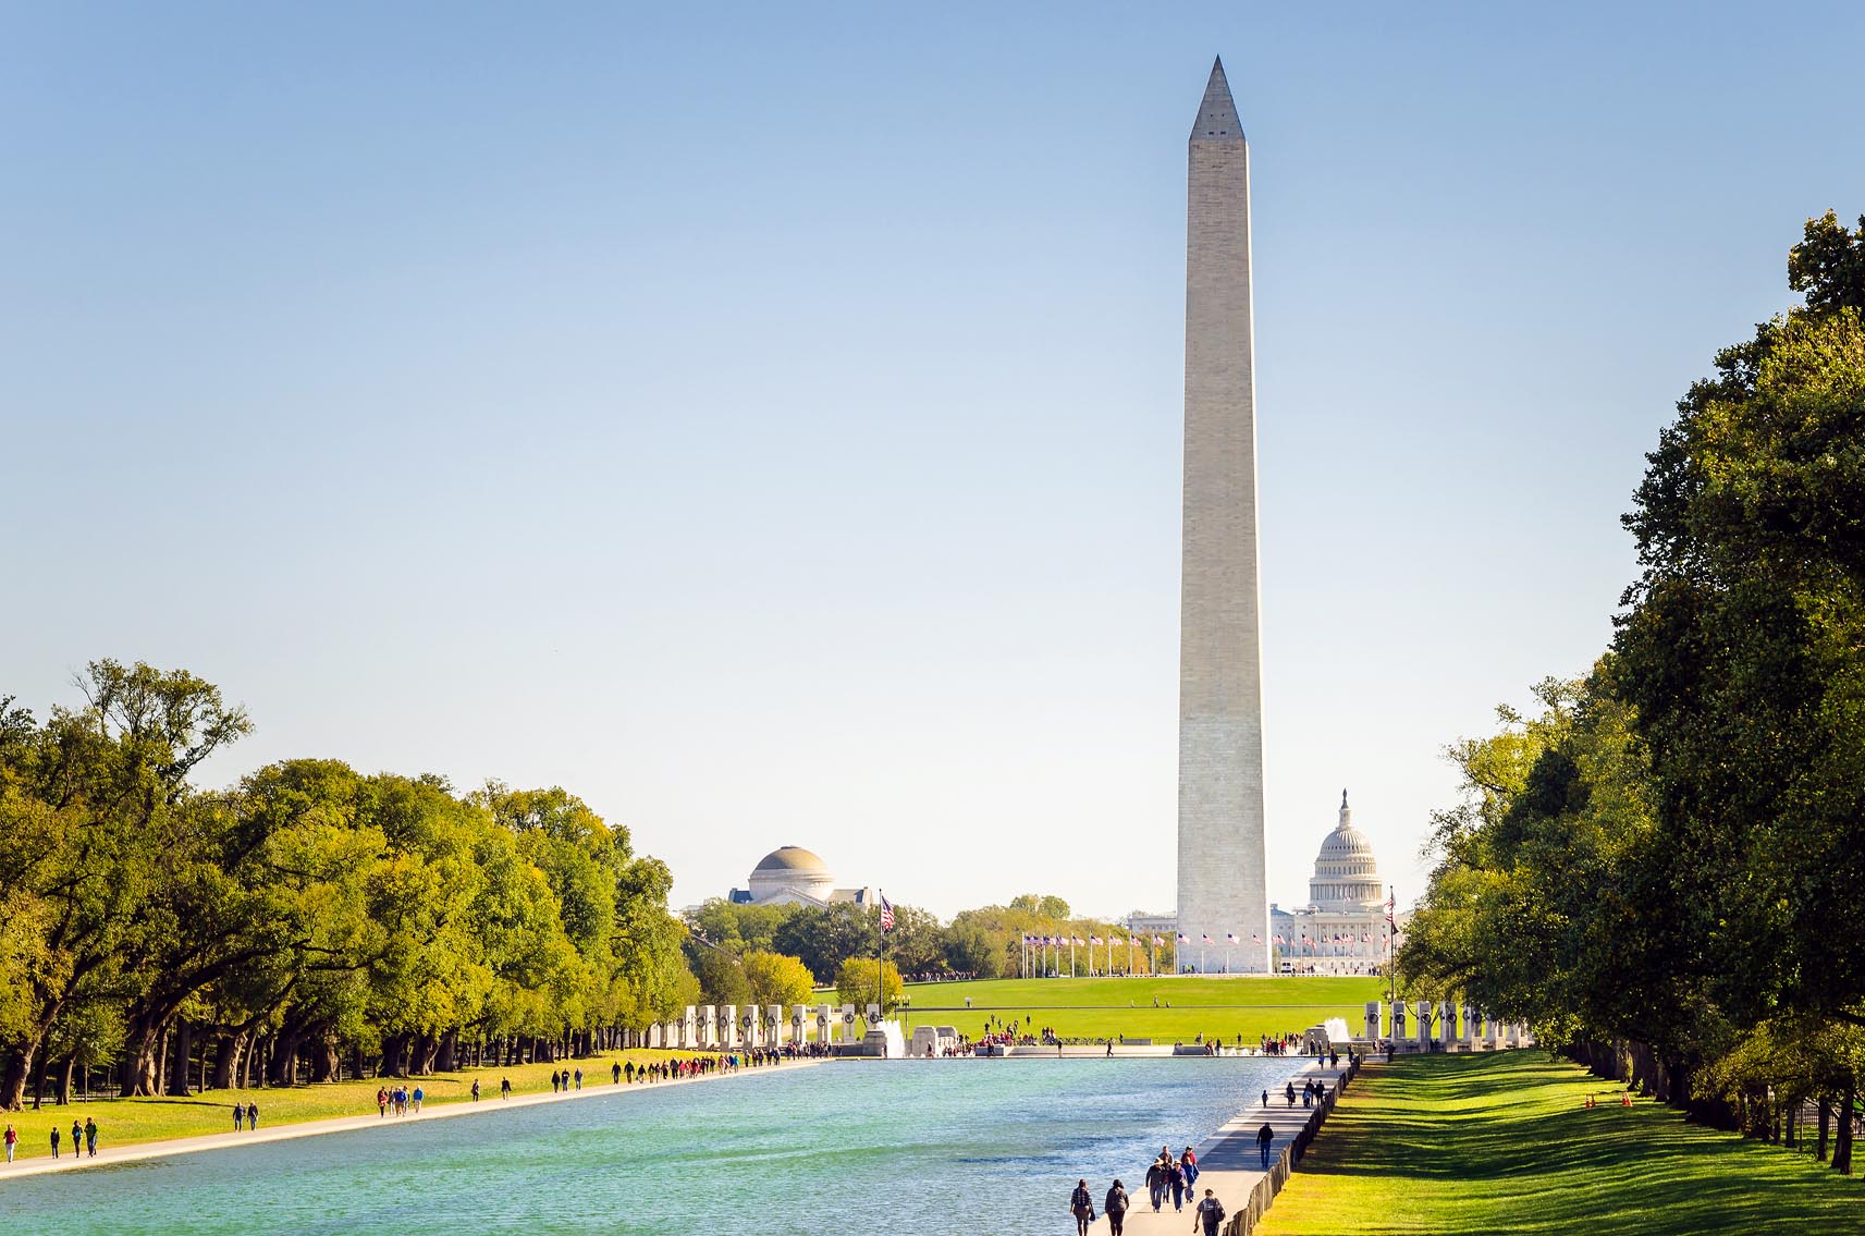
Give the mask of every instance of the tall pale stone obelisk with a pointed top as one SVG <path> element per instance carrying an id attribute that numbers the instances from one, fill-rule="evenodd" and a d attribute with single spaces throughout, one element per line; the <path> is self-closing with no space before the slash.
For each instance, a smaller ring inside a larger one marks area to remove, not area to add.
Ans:
<path id="1" fill-rule="evenodd" d="M 1268 969 L 1250 145 L 1223 62 L 1190 140 L 1184 574 L 1179 610 L 1179 968 Z"/>

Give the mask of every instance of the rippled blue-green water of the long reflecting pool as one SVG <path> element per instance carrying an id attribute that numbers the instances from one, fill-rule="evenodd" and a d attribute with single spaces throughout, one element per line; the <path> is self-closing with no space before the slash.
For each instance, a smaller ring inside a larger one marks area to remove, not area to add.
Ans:
<path id="1" fill-rule="evenodd" d="M 22 1236 L 1072 1232 L 1300 1061 L 845 1061 L 0 1182 Z"/>

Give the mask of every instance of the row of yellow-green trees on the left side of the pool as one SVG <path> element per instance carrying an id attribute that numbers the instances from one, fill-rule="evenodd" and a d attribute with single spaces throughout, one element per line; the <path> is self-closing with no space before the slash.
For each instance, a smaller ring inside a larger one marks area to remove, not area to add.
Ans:
<path id="1" fill-rule="evenodd" d="M 0 707 L 4 1107 L 48 1064 L 116 1064 L 123 1094 L 190 1092 L 196 1046 L 216 1085 L 425 1072 L 696 992 L 666 865 L 563 789 L 295 759 L 203 790 L 252 729 L 218 688 L 110 660 L 78 686 L 43 723 Z"/>

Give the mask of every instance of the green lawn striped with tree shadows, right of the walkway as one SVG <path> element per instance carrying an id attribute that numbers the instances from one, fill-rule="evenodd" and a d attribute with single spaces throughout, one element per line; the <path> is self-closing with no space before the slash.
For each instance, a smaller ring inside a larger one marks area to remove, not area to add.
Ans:
<path id="1" fill-rule="evenodd" d="M 1658 1104 L 1621 1107 L 1619 1089 L 1542 1051 L 1373 1064 L 1257 1232 L 1865 1230 L 1856 1178 Z"/>

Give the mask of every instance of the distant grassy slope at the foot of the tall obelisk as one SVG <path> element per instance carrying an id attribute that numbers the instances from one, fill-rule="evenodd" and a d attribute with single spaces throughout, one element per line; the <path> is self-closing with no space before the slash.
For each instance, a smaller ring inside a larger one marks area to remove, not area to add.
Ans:
<path id="1" fill-rule="evenodd" d="M 994 1012 L 1005 1022 L 1028 1016 L 1031 1027 L 1052 1025 L 1063 1038 L 1190 1042 L 1195 1035 L 1222 1035 L 1235 1042 L 1242 1035 L 1255 1044 L 1263 1035 L 1300 1033 L 1326 1018 L 1358 1027 L 1365 1001 L 1384 994 L 1384 979 L 987 979 L 910 984 L 906 1018 L 910 1025 L 957 1025 L 974 1037 Z"/>

